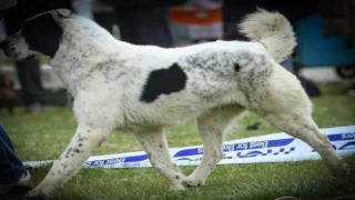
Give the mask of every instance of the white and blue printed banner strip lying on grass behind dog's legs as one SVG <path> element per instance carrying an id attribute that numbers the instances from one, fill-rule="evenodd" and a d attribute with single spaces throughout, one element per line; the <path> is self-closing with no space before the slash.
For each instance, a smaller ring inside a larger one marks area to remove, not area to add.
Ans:
<path id="1" fill-rule="evenodd" d="M 321 129 L 326 133 L 339 157 L 355 156 L 355 126 Z M 321 157 L 305 142 L 285 133 L 273 133 L 224 142 L 224 157 L 219 164 L 291 162 L 320 160 Z M 170 154 L 178 166 L 197 166 L 202 146 L 171 148 Z M 27 167 L 41 167 L 53 161 L 29 161 Z M 87 168 L 142 168 L 151 167 L 144 151 L 90 157 Z"/>

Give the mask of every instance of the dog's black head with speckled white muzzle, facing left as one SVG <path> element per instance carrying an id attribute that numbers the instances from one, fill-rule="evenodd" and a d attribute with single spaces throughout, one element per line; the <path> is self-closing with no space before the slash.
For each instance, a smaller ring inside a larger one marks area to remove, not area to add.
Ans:
<path id="1" fill-rule="evenodd" d="M 3 52 L 14 60 L 33 60 L 41 56 L 53 58 L 63 34 L 63 20 L 69 10 L 53 10 L 27 20 L 14 34 L 0 42 Z"/>

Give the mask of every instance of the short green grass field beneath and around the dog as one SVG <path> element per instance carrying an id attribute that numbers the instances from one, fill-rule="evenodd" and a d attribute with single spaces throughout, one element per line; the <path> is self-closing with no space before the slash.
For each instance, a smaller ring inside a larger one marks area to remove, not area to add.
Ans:
<path id="1" fill-rule="evenodd" d="M 320 128 L 355 124 L 355 97 L 346 96 L 348 84 L 322 86 L 324 93 L 313 98 L 314 120 Z M 18 156 L 23 161 L 55 159 L 64 150 L 75 130 L 70 107 L 47 107 L 41 116 L 28 116 L 18 108 L 10 116 L 0 111 L 0 121 L 7 128 Z M 246 127 L 260 122 L 260 129 Z M 260 117 L 247 113 L 226 139 L 240 139 L 280 132 Z M 193 122 L 168 130 L 170 147 L 202 144 Z M 113 132 L 94 154 L 139 151 L 141 147 L 131 134 Z M 352 170 L 355 158 L 346 159 Z M 190 174 L 195 167 L 183 167 Z M 49 167 L 31 170 L 36 183 L 49 171 Z M 22 199 L 9 194 L 0 199 Z M 53 193 L 58 200 L 112 200 L 112 199 L 355 199 L 355 173 L 332 177 L 322 161 L 287 163 L 254 163 L 217 166 L 200 188 L 169 191 L 168 183 L 152 168 L 138 169 L 81 169 L 63 187 Z"/>

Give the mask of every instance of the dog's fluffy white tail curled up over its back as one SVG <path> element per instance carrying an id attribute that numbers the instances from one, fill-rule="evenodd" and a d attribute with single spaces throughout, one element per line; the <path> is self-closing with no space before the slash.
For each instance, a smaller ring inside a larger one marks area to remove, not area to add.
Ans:
<path id="1" fill-rule="evenodd" d="M 286 59 L 296 46 L 292 26 L 278 12 L 257 9 L 246 16 L 239 28 L 252 41 L 262 42 L 277 62 Z"/>

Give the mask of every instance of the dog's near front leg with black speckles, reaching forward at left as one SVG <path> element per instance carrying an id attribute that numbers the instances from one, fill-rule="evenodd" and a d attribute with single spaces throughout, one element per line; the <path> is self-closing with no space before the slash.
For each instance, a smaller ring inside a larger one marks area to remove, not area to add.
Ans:
<path id="1" fill-rule="evenodd" d="M 109 131 L 80 124 L 65 151 L 54 161 L 50 172 L 28 197 L 50 196 L 50 193 L 77 172 L 83 162 L 108 138 Z"/>

